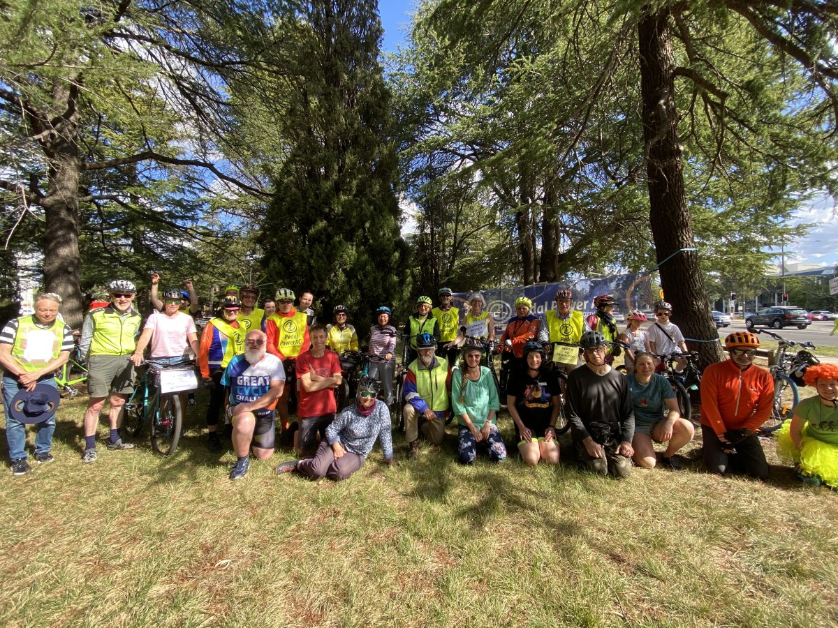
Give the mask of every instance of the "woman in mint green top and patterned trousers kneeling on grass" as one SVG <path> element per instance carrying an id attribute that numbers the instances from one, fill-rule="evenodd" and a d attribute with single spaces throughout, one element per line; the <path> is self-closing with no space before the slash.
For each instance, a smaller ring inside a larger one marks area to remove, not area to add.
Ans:
<path id="1" fill-rule="evenodd" d="M 480 366 L 483 347 L 467 344 L 463 363 L 451 373 L 451 405 L 459 424 L 459 461 L 469 465 L 477 458 L 478 446 L 489 453 L 489 460 L 506 460 L 506 446 L 495 414 L 500 409 L 498 389 L 489 368 Z"/>

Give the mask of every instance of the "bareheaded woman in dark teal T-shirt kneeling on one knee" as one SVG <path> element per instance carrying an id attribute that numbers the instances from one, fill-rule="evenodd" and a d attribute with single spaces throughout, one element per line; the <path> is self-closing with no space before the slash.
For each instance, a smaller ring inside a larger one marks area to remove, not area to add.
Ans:
<path id="1" fill-rule="evenodd" d="M 634 356 L 634 373 L 627 375 L 626 380 L 634 404 L 634 463 L 654 467 L 654 440 L 668 443 L 661 466 L 680 471 L 675 452 L 692 440 L 696 429 L 680 415 L 675 391 L 663 375 L 654 372 L 654 358 L 649 353 Z"/>

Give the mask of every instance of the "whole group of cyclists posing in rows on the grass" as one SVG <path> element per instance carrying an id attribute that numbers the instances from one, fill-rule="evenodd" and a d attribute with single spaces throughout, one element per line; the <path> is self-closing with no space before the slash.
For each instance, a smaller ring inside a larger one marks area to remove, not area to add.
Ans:
<path id="1" fill-rule="evenodd" d="M 335 390 L 348 374 L 341 356 L 360 349 L 346 306 L 335 306 L 333 322 L 323 325 L 311 309 L 311 292 L 297 301 L 292 290 L 282 287 L 260 307 L 258 287 L 230 286 L 199 337 L 194 322 L 198 298 L 191 282 L 184 281 L 185 290 L 169 288 L 161 296 L 158 281 L 153 275 L 148 317 L 137 311 L 137 288 L 127 280 L 111 281 L 106 305 L 85 317 L 79 342 L 89 371 L 85 463 L 96 461 L 96 428 L 106 401 L 106 447 L 134 447 L 122 440 L 120 425 L 136 369 L 144 360 L 182 363 L 191 356 L 197 358 L 209 389 L 209 450 L 224 450 L 219 425 L 229 425 L 236 456 L 230 469 L 233 480 L 246 476 L 251 454 L 259 460 L 272 456 L 277 430 L 290 436 L 287 444 L 297 454 L 277 466 L 277 473 L 344 479 L 364 464 L 375 440 L 380 440 L 385 460 L 392 462 L 391 411 L 397 403 L 403 404 L 408 458 L 420 455 L 420 435 L 441 445 L 447 421 L 456 418 L 461 463 L 473 463 L 481 452 L 490 461 L 504 461 L 506 444 L 497 425 L 502 405 L 527 465 L 559 461 L 560 420 L 569 426 L 582 465 L 618 478 L 629 476 L 633 466 L 680 470 L 676 454 L 694 437 L 691 417 L 680 416 L 675 393 L 660 374 L 662 356 L 687 353 L 666 301 L 655 304 L 651 326 L 641 328 L 648 322 L 645 315 L 630 311 L 621 331 L 613 318 L 613 296 L 597 296 L 588 317 L 573 309 L 572 291 L 566 289 L 556 292 L 555 309 L 544 315 L 532 311 L 531 301 L 521 296 L 495 342 L 494 317 L 479 292 L 468 296 L 463 313 L 453 305 L 449 288 L 438 292 L 436 304 L 419 296 L 401 329 L 407 356 L 401 401 L 393 394 L 400 333 L 391 324 L 391 308 L 380 306 L 368 336 L 368 372 L 347 407 L 340 408 Z M 73 348 L 72 332 L 59 319 L 59 305 L 59 296 L 39 295 L 33 315 L 14 319 L 0 332 L 3 403 L 15 475 L 31 469 L 25 450 L 27 423 L 38 425 L 35 461 L 53 459 L 49 446 L 59 404 L 53 373 Z M 768 477 L 758 428 L 771 411 L 773 380 L 753 365 L 758 346 L 753 333 L 733 332 L 725 339 L 729 359 L 704 373 L 701 432 L 704 460 L 712 472 Z M 612 368 L 623 352 L 624 374 Z M 489 368 L 498 353 L 508 374 L 500 384 Z M 676 360 L 675 368 L 685 363 Z M 819 368 L 811 370 L 820 401 L 795 412 L 783 446 L 801 477 L 838 486 L 838 368 Z M 288 407 L 292 389 L 297 397 L 293 422 Z M 812 439 L 818 445 L 807 449 Z M 656 453 L 654 443 L 665 450 Z"/>

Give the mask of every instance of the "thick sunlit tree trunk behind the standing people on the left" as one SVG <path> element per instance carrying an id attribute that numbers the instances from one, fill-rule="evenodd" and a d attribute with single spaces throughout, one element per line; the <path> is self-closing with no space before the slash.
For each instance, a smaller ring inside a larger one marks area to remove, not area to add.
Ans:
<path id="1" fill-rule="evenodd" d="M 79 286 L 79 114 L 78 88 L 59 85 L 54 104 L 65 111 L 54 122 L 55 133 L 44 141 L 49 159 L 48 188 L 43 200 L 44 285 L 61 296 L 61 314 L 72 329 L 81 327 L 83 304 Z"/>

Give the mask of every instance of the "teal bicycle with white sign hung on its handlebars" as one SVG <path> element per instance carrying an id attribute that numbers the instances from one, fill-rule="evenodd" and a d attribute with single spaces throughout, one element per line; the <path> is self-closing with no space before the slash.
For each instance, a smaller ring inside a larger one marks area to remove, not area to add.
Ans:
<path id="1" fill-rule="evenodd" d="M 148 423 L 154 453 L 171 456 L 177 450 L 184 430 L 184 407 L 180 403 L 179 393 L 198 387 L 194 361 L 181 360 L 169 364 L 143 360 L 142 365 L 147 368 L 125 404 L 122 428 L 136 438 Z"/>

